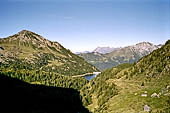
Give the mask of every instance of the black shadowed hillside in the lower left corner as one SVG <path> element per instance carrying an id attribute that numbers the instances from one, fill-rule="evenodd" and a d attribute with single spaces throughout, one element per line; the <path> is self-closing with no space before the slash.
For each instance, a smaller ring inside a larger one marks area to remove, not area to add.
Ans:
<path id="1" fill-rule="evenodd" d="M 0 75 L 0 113 L 88 113 L 71 88 L 31 85 Z"/>

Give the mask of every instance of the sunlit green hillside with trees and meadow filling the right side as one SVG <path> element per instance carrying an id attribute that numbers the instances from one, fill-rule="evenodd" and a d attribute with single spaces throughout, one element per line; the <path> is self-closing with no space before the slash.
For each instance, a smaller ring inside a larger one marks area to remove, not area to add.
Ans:
<path id="1" fill-rule="evenodd" d="M 139 45 L 137 45 L 139 46 Z M 95 113 L 169 113 L 170 40 L 133 64 L 104 70 L 84 88 Z"/>

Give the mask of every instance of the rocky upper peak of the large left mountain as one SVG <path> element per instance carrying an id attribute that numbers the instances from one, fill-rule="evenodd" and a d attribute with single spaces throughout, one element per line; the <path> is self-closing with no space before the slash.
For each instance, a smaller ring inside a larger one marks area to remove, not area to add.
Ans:
<path id="1" fill-rule="evenodd" d="M 29 47 L 33 49 L 49 49 L 60 51 L 63 48 L 58 42 L 52 42 L 48 39 L 45 39 L 41 35 L 38 35 L 32 31 L 22 30 L 17 34 L 9 36 L 7 38 L 2 38 L 0 43 L 17 45 L 20 48 Z"/>

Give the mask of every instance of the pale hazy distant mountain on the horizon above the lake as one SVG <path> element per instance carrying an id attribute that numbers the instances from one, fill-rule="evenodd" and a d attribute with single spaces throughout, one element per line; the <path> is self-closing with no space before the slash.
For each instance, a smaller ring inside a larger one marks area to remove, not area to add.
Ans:
<path id="1" fill-rule="evenodd" d="M 110 53 L 114 50 L 118 50 L 120 48 L 111 48 L 111 47 L 97 47 L 93 52 L 94 53 L 101 53 L 101 54 L 106 54 L 106 53 Z"/>

